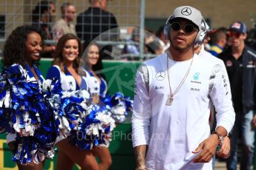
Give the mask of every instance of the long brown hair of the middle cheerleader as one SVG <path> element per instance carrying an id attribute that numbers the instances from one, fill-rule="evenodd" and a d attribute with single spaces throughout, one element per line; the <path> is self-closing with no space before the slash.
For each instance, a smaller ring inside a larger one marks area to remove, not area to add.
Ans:
<path id="1" fill-rule="evenodd" d="M 59 68 L 62 70 L 62 72 L 65 72 L 64 70 L 65 64 L 62 56 L 62 50 L 64 49 L 66 42 L 71 39 L 75 39 L 78 42 L 79 54 L 78 54 L 78 57 L 75 59 L 75 61 L 73 61 L 73 68 L 76 69 L 76 72 L 79 72 L 79 61 L 82 56 L 82 44 L 80 39 L 76 35 L 73 35 L 71 33 L 62 35 L 62 37 L 59 38 L 58 44 L 56 46 L 56 50 L 53 54 L 53 57 L 54 57 L 53 65 L 58 65 Z"/>

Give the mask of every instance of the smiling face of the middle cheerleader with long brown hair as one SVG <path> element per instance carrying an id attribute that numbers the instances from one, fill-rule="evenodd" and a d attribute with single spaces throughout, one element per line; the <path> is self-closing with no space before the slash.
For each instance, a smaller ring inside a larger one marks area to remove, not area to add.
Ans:
<path id="1" fill-rule="evenodd" d="M 76 39 L 66 41 L 62 49 L 62 58 L 64 61 L 73 62 L 79 54 L 79 44 Z"/>

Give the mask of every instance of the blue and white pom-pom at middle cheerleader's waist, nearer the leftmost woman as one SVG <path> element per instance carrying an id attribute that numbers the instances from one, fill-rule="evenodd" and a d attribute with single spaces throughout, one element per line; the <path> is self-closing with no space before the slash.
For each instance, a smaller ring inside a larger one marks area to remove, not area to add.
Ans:
<path id="1" fill-rule="evenodd" d="M 77 130 L 91 109 L 90 95 L 86 90 L 63 91 L 59 80 L 46 80 L 43 84 L 45 98 L 54 113 L 57 131 L 68 136 Z"/>

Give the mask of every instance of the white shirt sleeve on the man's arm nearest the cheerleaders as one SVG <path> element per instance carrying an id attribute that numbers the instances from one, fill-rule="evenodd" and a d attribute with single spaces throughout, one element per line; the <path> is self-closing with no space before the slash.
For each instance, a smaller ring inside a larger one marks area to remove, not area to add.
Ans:
<path id="1" fill-rule="evenodd" d="M 134 112 L 131 118 L 134 147 L 148 145 L 148 126 L 151 119 L 151 103 L 147 84 L 148 70 L 143 67 L 146 68 L 145 65 L 142 65 L 137 71 L 134 87 Z"/>

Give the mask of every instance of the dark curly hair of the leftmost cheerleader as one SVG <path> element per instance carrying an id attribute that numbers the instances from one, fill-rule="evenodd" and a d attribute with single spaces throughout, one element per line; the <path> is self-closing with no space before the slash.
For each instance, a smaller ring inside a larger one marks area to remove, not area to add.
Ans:
<path id="1" fill-rule="evenodd" d="M 33 32 L 41 36 L 43 43 L 42 31 L 38 27 L 24 25 L 13 30 L 4 44 L 3 67 L 10 67 L 12 64 L 20 64 L 24 67 L 27 58 L 27 35 Z"/>

